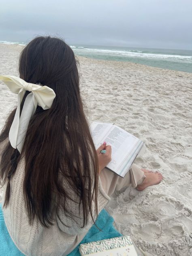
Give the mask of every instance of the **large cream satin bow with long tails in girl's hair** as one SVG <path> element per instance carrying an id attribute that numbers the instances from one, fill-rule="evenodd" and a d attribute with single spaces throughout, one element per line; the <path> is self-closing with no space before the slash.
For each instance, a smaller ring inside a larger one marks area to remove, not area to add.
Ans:
<path id="1" fill-rule="evenodd" d="M 49 109 L 55 98 L 55 92 L 45 86 L 34 83 L 27 83 L 23 79 L 14 76 L 0 76 L 9 89 L 18 94 L 18 106 L 9 131 L 9 141 L 13 148 L 17 148 L 21 153 L 25 141 L 26 132 L 32 115 L 35 113 L 37 105 L 43 109 Z M 20 114 L 20 105 L 26 91 L 31 92 L 25 99 L 23 109 Z"/>

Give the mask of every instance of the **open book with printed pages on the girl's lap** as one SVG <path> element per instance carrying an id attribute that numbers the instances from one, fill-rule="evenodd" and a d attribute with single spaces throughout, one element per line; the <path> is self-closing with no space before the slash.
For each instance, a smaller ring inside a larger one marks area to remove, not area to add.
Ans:
<path id="1" fill-rule="evenodd" d="M 91 133 L 96 149 L 104 141 L 111 145 L 111 162 L 107 168 L 121 177 L 129 171 L 142 148 L 144 151 L 143 141 L 114 124 L 92 122 Z"/>

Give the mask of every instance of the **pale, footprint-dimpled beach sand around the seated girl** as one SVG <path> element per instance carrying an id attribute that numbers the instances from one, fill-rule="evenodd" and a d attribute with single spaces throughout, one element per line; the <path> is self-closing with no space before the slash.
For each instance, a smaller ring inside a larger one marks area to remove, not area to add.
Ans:
<path id="1" fill-rule="evenodd" d="M 0 45 L 0 73 L 18 75 L 22 46 Z M 164 180 L 128 188 L 107 210 L 143 256 L 192 255 L 192 74 L 79 57 L 81 96 L 90 121 L 114 122 L 147 147 L 136 160 Z M 0 128 L 17 96 L 0 85 Z"/>

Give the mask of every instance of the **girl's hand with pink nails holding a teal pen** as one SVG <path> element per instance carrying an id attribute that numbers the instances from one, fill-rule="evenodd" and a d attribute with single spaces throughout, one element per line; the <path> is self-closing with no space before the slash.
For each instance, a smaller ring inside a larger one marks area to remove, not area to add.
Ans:
<path id="1" fill-rule="evenodd" d="M 106 150 L 106 153 L 102 154 L 101 150 Z M 99 173 L 102 169 L 104 169 L 107 164 L 111 161 L 111 146 L 107 146 L 107 143 L 104 142 L 100 147 L 96 150 L 98 156 L 98 164 L 99 164 Z"/>

